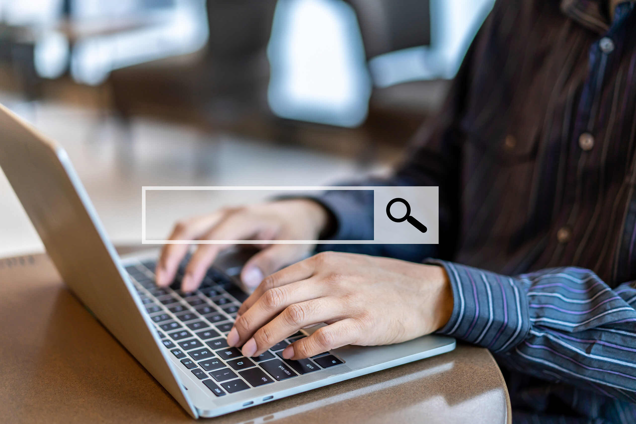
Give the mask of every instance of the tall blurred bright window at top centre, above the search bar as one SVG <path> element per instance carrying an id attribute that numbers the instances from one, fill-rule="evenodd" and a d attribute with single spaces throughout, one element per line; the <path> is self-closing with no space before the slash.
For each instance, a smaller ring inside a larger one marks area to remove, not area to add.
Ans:
<path id="1" fill-rule="evenodd" d="M 356 127 L 371 81 L 352 8 L 341 0 L 279 0 L 268 46 L 273 113 L 291 120 Z"/>

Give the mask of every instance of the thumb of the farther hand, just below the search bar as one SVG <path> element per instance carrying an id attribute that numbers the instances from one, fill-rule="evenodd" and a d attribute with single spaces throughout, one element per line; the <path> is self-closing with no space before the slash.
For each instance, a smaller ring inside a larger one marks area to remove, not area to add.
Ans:
<path id="1" fill-rule="evenodd" d="M 284 266 L 303 259 L 311 249 L 310 245 L 275 244 L 252 256 L 241 271 L 242 282 L 254 289 L 263 278 L 275 273 Z"/>

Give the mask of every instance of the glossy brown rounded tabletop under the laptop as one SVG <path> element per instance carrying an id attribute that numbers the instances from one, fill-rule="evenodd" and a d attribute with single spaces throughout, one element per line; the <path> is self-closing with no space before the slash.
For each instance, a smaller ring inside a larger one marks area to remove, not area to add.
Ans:
<path id="1" fill-rule="evenodd" d="M 190 416 L 67 291 L 45 255 L 0 259 L 0 421 L 185 423 Z M 511 422 L 488 350 L 453 352 L 212 418 L 215 423 Z"/>

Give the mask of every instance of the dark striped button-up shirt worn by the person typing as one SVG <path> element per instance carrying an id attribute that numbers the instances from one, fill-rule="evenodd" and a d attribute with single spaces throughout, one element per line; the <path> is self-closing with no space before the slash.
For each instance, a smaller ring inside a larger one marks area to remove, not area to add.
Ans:
<path id="1" fill-rule="evenodd" d="M 439 186 L 439 245 L 344 247 L 445 267 L 440 332 L 495 354 L 518 423 L 636 423 L 636 11 L 608 9 L 498 0 L 382 182 Z M 373 238 L 370 196 L 319 201 Z"/>

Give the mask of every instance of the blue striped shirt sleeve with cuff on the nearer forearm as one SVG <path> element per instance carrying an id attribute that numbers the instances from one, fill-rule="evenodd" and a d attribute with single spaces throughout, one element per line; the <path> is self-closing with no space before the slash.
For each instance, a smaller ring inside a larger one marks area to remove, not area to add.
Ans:
<path id="1" fill-rule="evenodd" d="M 636 289 L 565 267 L 508 277 L 446 261 L 452 317 L 439 330 L 544 380 L 636 402 Z"/>

